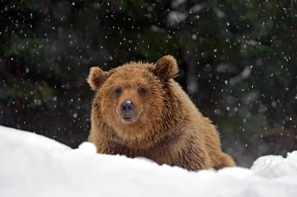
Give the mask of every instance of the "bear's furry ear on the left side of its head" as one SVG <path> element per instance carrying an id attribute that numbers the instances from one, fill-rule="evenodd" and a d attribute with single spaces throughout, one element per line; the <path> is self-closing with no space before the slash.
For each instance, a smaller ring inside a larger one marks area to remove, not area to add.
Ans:
<path id="1" fill-rule="evenodd" d="M 90 84 L 91 89 L 97 91 L 110 75 L 110 72 L 102 71 L 99 67 L 92 67 L 87 81 Z"/>

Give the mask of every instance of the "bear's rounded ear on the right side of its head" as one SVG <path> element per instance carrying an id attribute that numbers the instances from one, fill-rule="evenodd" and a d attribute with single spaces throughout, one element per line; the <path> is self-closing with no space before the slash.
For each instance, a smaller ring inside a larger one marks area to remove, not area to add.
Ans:
<path id="1" fill-rule="evenodd" d="M 154 75 L 159 79 L 169 80 L 177 77 L 177 62 L 171 55 L 161 57 L 156 63 L 153 70 Z"/>

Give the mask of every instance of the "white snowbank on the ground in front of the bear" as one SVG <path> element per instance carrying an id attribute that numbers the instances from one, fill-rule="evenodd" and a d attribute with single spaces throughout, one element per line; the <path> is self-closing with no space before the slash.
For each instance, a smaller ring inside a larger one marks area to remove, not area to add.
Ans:
<path id="1" fill-rule="evenodd" d="M 296 180 L 297 151 L 260 157 L 250 169 L 189 172 L 0 126 L 0 197 L 296 197 Z"/>

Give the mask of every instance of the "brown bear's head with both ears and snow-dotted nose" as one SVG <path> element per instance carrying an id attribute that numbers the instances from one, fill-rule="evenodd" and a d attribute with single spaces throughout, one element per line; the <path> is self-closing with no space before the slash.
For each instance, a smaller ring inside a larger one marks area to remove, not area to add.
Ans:
<path id="1" fill-rule="evenodd" d="M 124 140 L 148 139 L 168 116 L 168 89 L 177 73 L 169 55 L 155 64 L 131 62 L 108 72 L 91 68 L 88 83 L 96 92 L 92 121 L 107 124 Z"/>

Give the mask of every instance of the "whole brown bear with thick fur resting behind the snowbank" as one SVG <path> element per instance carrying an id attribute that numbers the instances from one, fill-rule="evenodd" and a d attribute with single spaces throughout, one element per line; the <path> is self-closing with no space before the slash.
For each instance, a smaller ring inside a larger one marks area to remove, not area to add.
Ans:
<path id="1" fill-rule="evenodd" d="M 91 68 L 96 92 L 89 142 L 98 153 L 144 157 L 188 170 L 235 166 L 214 125 L 174 81 L 177 62 L 130 62 L 108 72 Z"/>

